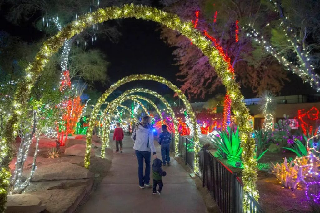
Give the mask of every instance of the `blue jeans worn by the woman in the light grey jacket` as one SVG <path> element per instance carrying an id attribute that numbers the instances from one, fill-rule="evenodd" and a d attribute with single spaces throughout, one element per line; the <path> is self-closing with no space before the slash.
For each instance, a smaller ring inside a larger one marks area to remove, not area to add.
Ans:
<path id="1" fill-rule="evenodd" d="M 151 152 L 148 151 L 139 151 L 134 150 L 138 159 L 138 176 L 139 176 L 139 185 L 144 186 L 144 184 L 150 183 L 150 158 Z M 143 175 L 143 159 L 146 163 L 145 175 Z"/>

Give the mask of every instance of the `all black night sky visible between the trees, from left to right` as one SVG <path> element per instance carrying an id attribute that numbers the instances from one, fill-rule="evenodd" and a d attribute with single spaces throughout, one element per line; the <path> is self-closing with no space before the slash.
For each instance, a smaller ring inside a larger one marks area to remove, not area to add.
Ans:
<path id="1" fill-rule="evenodd" d="M 36 41 L 41 37 L 41 32 L 32 27 L 32 22 L 22 23 L 21 26 L 14 26 L 7 22 L 3 15 L 0 14 L 0 30 L 4 30 L 14 36 L 19 36 L 28 42 Z M 176 73 L 179 67 L 173 65 L 175 63 L 172 51 L 160 39 L 159 25 L 152 21 L 137 19 L 122 19 L 118 29 L 122 33 L 118 43 L 112 43 L 107 39 L 97 39 L 94 46 L 90 48 L 98 48 L 107 55 L 110 63 L 108 67 L 108 75 L 110 83 L 106 86 L 96 84 L 96 89 L 103 92 L 110 84 L 117 80 L 130 75 L 149 73 L 163 76 L 167 80 L 172 81 L 178 87 L 181 82 L 176 80 Z M 297 95 L 315 93 L 306 84 L 302 84 L 296 75 L 289 74 L 291 82 L 286 82 L 285 87 L 281 91 L 281 95 Z M 160 94 L 172 94 L 170 88 L 154 81 L 135 81 L 126 84 L 119 89 L 124 91 L 132 87 L 146 87 Z M 241 88 L 245 98 L 252 98 L 254 94 L 250 88 Z M 217 89 L 216 93 L 225 93 L 223 87 Z M 215 94 L 206 95 L 205 100 L 213 97 Z M 201 99 L 192 99 L 191 101 L 202 101 Z"/>

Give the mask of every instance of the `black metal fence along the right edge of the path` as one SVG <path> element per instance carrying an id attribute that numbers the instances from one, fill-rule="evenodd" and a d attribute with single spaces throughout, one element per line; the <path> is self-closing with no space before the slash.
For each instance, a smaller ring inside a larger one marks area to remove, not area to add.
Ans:
<path id="1" fill-rule="evenodd" d="M 207 187 L 221 212 L 264 212 L 251 194 L 243 192 L 243 183 L 237 174 L 222 164 L 206 148 L 182 136 L 179 136 L 178 148 L 178 156 L 202 180 L 203 186 Z M 195 162 L 196 157 L 198 160 Z M 248 200 L 245 208 L 243 207 L 244 199 Z"/>

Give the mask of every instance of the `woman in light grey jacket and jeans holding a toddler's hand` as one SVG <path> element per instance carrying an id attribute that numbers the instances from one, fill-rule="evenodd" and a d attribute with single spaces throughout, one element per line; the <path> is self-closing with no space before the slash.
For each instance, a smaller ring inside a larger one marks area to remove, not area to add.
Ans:
<path id="1" fill-rule="evenodd" d="M 144 189 L 144 186 L 150 187 L 150 158 L 151 152 L 154 158 L 157 158 L 155 145 L 153 143 L 153 127 L 151 118 L 145 116 L 142 121 L 136 126 L 132 135 L 134 141 L 133 149 L 138 159 L 138 176 L 139 186 Z M 146 164 L 145 174 L 143 175 L 143 160 Z"/>

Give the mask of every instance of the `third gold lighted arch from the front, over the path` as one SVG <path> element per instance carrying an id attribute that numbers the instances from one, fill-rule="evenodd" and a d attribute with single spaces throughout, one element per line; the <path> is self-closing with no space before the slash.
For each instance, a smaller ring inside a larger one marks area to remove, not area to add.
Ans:
<path id="1" fill-rule="evenodd" d="M 134 89 L 126 90 L 119 97 L 117 97 L 116 99 L 114 99 L 113 101 L 108 103 L 107 108 L 101 113 L 101 117 L 105 118 L 105 114 L 106 114 L 106 112 L 108 112 L 110 110 L 110 108 L 111 109 L 115 108 L 116 106 L 121 104 L 124 101 L 124 98 L 132 93 L 147 93 L 150 95 L 154 95 L 155 97 L 157 97 L 158 99 L 160 99 L 164 103 L 165 107 L 167 108 L 167 110 L 169 111 L 169 113 L 171 114 L 171 117 L 172 117 L 173 126 L 174 126 L 174 130 L 175 130 L 175 147 L 176 147 L 176 153 L 177 153 L 178 152 L 178 143 L 179 143 L 178 120 L 175 117 L 174 111 L 173 111 L 170 103 L 168 103 L 167 100 L 162 95 L 160 95 L 159 93 L 156 93 L 155 91 L 145 89 L 145 88 L 134 88 Z M 104 121 L 107 122 L 106 119 Z M 110 122 L 110 120 L 108 122 Z M 107 131 L 108 131 L 108 128 L 103 128 L 103 129 L 104 130 L 107 129 Z M 105 131 L 103 132 L 103 135 L 101 136 L 101 137 L 103 137 L 102 142 L 107 141 L 106 138 L 108 137 L 108 135 L 109 135 L 108 132 L 107 133 Z M 105 148 L 106 148 L 106 145 L 101 146 L 101 153 L 103 153 L 101 155 L 101 157 L 104 157 Z"/>

